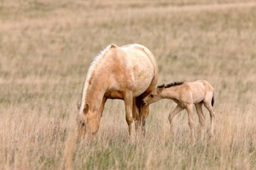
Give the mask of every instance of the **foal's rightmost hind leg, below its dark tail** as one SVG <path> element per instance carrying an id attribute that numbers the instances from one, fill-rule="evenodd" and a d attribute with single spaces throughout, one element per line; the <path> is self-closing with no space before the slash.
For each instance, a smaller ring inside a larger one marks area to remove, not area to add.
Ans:
<path id="1" fill-rule="evenodd" d="M 212 97 L 213 97 L 212 93 L 206 93 L 205 98 L 203 99 L 203 105 L 210 112 L 210 118 L 211 118 L 210 138 L 214 136 L 214 125 L 215 125 L 215 112 L 214 112 L 214 108 L 212 108 Z"/>

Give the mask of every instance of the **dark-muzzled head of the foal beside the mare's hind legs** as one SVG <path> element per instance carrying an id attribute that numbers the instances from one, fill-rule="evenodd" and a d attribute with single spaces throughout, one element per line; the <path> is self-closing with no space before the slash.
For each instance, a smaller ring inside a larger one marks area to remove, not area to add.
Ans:
<path id="1" fill-rule="evenodd" d="M 143 100 L 142 104 L 143 105 L 150 105 L 151 103 L 154 103 L 160 99 L 162 99 L 161 92 L 164 89 L 165 85 L 160 85 L 153 89 L 151 93 L 149 93 Z"/>

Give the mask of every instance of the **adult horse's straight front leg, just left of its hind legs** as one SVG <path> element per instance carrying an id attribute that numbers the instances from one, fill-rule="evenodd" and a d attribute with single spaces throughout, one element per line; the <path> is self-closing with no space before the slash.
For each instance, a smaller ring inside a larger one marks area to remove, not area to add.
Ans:
<path id="1" fill-rule="evenodd" d="M 129 135 L 130 137 L 133 135 L 132 132 L 132 126 L 131 124 L 133 123 L 133 93 L 131 91 L 128 91 L 127 93 L 125 93 L 125 119 L 126 122 L 129 126 Z"/>

